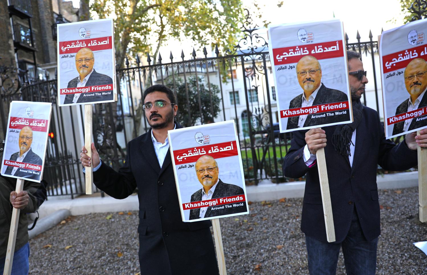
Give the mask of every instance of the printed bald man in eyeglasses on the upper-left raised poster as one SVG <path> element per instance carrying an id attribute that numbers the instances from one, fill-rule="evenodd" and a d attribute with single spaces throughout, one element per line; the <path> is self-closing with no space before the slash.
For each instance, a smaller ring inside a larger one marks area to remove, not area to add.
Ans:
<path id="1" fill-rule="evenodd" d="M 95 56 L 91 49 L 82 48 L 76 53 L 76 69 L 79 73 L 74 79 L 68 82 L 67 88 L 80 88 L 96 85 L 111 84 L 111 90 L 102 91 L 102 93 L 81 93 L 81 94 L 67 94 L 65 96 L 64 104 L 84 103 L 84 102 L 97 102 L 104 100 L 111 100 L 114 97 L 112 91 L 113 79 L 111 77 L 97 73 L 94 69 Z M 99 95 L 97 95 L 99 94 Z"/>

